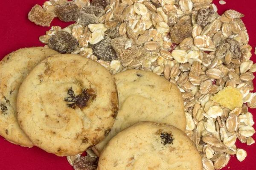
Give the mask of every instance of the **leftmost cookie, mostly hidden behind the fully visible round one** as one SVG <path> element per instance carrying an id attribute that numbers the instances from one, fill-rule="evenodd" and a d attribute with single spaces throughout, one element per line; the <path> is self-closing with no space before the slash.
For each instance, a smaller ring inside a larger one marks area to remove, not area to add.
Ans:
<path id="1" fill-rule="evenodd" d="M 22 48 L 0 61 L 0 135 L 13 144 L 33 144 L 17 122 L 16 99 L 21 82 L 39 62 L 58 52 L 43 47 Z"/>

